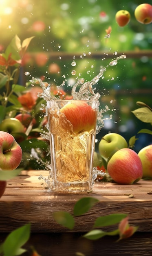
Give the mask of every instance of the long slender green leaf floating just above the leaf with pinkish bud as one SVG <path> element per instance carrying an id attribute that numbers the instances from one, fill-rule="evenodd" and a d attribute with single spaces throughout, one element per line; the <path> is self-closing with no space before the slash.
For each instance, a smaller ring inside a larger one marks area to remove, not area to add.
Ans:
<path id="1" fill-rule="evenodd" d="M 95 220 L 94 227 L 106 227 L 114 225 L 125 218 L 127 214 L 113 213 L 106 216 L 101 216 Z"/>

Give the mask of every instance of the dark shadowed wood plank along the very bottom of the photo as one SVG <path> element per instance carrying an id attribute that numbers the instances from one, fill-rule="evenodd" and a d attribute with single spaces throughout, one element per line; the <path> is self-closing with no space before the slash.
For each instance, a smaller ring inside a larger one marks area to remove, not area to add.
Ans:
<path id="1" fill-rule="evenodd" d="M 106 236 L 99 240 L 87 240 L 84 233 L 32 233 L 24 245 L 31 256 L 31 246 L 42 256 L 151 256 L 152 234 L 136 232 L 131 238 L 116 243 L 117 236 Z M 7 234 L 0 234 L 4 241 Z M 80 254 L 81 253 L 81 254 Z"/>

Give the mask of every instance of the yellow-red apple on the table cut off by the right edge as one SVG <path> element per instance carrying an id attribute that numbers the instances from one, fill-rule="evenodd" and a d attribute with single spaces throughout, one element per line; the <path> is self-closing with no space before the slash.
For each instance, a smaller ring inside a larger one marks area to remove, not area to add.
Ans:
<path id="1" fill-rule="evenodd" d="M 143 178 L 152 178 L 152 145 L 142 148 L 138 155 L 143 165 Z"/>

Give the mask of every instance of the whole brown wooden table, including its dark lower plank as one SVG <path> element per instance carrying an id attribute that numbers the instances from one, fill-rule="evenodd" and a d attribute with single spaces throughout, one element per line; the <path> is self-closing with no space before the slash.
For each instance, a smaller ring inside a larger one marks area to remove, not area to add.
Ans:
<path id="1" fill-rule="evenodd" d="M 7 182 L 0 199 L 0 240 L 31 222 L 31 238 L 26 246 L 34 245 L 42 256 L 80 255 L 78 252 L 85 256 L 152 255 L 152 181 L 141 180 L 134 185 L 96 182 L 93 193 L 65 195 L 48 192 L 45 182 L 38 179 L 40 174 L 47 177 L 48 171 L 22 171 Z M 55 222 L 52 213 L 73 213 L 75 202 L 84 196 L 95 197 L 99 202 L 83 216 L 76 217 L 75 228 L 69 232 Z M 115 243 L 116 237 L 95 241 L 82 238 L 84 232 L 92 229 L 95 218 L 110 213 L 127 213 L 130 225 L 139 226 L 138 232 L 119 243 Z"/>

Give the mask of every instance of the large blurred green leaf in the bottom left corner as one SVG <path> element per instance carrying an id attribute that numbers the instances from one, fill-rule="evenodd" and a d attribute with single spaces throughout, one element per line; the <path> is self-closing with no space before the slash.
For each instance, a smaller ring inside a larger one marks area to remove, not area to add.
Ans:
<path id="1" fill-rule="evenodd" d="M 31 224 L 26 224 L 12 231 L 3 243 L 3 252 L 5 256 L 16 256 L 23 253 L 22 247 L 30 237 Z"/>

